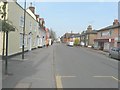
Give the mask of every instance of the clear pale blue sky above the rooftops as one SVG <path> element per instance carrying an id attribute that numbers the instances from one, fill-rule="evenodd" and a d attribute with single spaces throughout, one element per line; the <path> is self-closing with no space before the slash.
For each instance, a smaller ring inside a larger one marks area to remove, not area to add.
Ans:
<path id="1" fill-rule="evenodd" d="M 99 0 L 100 1 L 100 0 Z M 30 2 L 27 4 L 30 5 Z M 33 2 L 36 14 L 44 18 L 45 26 L 57 37 L 66 32 L 80 33 L 88 25 L 99 30 L 118 18 L 118 2 Z"/>

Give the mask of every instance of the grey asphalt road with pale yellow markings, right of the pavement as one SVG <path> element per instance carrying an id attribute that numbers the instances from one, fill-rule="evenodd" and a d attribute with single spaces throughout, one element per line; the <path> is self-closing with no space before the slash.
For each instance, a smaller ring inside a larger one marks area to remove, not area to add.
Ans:
<path id="1" fill-rule="evenodd" d="M 58 88 L 118 88 L 118 61 L 96 51 L 58 44 L 54 62 Z"/>

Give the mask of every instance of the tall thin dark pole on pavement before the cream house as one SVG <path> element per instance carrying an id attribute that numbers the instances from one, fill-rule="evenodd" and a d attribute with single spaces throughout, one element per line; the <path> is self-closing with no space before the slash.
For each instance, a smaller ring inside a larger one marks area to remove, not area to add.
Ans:
<path id="1" fill-rule="evenodd" d="M 25 18 L 26 18 L 26 0 L 24 3 L 24 27 L 23 27 L 23 44 L 22 44 L 22 59 L 24 59 L 24 47 L 25 47 Z"/>

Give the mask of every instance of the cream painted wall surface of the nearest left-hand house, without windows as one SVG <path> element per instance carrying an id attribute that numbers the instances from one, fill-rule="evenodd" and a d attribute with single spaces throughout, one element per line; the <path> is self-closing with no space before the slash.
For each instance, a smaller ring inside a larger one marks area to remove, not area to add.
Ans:
<path id="1" fill-rule="evenodd" d="M 20 47 L 20 33 L 23 33 L 22 27 L 20 27 L 20 18 L 24 16 L 24 10 L 15 2 L 9 2 L 8 5 L 8 20 L 12 22 L 12 24 L 16 27 L 15 32 L 9 33 L 9 55 L 19 53 L 22 51 Z M 32 23 L 32 29 L 30 30 L 30 22 Z M 26 35 L 26 43 L 27 46 L 25 50 L 28 50 L 28 35 L 32 32 L 32 48 L 35 47 L 36 41 L 36 31 L 37 22 L 34 18 L 32 18 L 28 13 L 26 13 L 26 28 L 25 28 L 25 35 Z"/>

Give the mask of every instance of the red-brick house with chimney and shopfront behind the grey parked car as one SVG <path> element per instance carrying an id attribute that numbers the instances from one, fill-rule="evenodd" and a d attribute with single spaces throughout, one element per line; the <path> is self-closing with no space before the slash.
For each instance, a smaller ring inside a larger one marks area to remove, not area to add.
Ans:
<path id="1" fill-rule="evenodd" d="M 98 30 L 94 47 L 104 51 L 109 51 L 111 47 L 119 47 L 119 30 L 120 24 L 117 19 L 114 20 L 113 25 Z"/>

